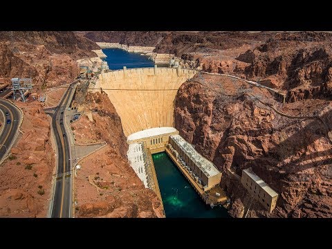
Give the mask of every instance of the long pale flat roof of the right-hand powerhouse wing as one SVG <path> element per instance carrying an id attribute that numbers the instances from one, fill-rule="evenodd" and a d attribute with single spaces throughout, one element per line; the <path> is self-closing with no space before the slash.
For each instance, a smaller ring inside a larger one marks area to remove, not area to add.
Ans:
<path id="1" fill-rule="evenodd" d="M 205 176 L 211 177 L 217 174 L 220 174 L 219 170 L 216 169 L 214 164 L 210 162 L 210 160 L 206 159 L 204 156 L 199 154 L 199 152 L 190 145 L 183 137 L 180 135 L 172 135 L 170 136 L 176 142 L 176 144 L 181 147 L 181 149 L 189 156 L 192 161 L 194 161 L 201 169 L 201 171 L 205 174 Z"/>

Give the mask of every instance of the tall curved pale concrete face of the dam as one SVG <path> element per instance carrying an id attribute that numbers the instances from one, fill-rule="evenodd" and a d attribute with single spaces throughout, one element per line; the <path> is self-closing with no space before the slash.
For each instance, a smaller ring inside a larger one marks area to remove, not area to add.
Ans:
<path id="1" fill-rule="evenodd" d="M 174 127 L 174 100 L 196 71 L 180 68 L 133 68 L 102 73 L 95 87 L 107 93 L 125 136 L 153 127 Z"/>

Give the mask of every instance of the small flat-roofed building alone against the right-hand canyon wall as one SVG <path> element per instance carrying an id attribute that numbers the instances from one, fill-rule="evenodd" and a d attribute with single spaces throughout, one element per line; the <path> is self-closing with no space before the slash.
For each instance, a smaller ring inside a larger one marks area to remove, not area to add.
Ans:
<path id="1" fill-rule="evenodd" d="M 261 180 L 261 178 L 252 171 L 251 167 L 242 170 L 241 183 L 246 190 L 248 190 L 250 195 L 259 201 L 266 210 L 272 212 L 275 209 L 278 199 L 277 192 Z"/>

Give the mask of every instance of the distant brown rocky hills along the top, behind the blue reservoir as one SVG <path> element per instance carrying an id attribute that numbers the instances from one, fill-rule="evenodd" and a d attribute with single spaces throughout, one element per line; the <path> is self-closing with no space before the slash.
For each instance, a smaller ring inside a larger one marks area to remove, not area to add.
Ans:
<path id="1" fill-rule="evenodd" d="M 84 36 L 94 42 L 118 42 L 128 46 L 156 46 L 154 52 L 181 57 L 185 53 L 209 53 L 237 48 L 270 37 L 272 33 L 247 32 L 158 32 L 158 31 L 93 31 Z"/>

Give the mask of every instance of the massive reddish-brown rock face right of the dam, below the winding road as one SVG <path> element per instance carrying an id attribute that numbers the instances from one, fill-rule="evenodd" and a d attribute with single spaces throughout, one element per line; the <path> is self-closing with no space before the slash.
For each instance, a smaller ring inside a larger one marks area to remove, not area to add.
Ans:
<path id="1" fill-rule="evenodd" d="M 248 86 L 222 76 L 203 77 L 203 83 L 196 78 L 179 89 L 175 127 L 223 172 L 221 185 L 232 199 L 230 214 L 243 215 L 250 196 L 228 169 L 241 176 L 242 169 L 252 167 L 279 199 L 272 214 L 254 201 L 247 216 L 332 216 L 331 101 L 282 107 L 263 89 L 242 91 Z M 281 116 L 250 94 L 289 115 L 296 116 L 301 107 L 300 116 L 320 118 Z"/>

